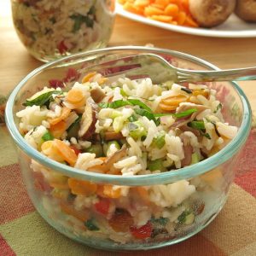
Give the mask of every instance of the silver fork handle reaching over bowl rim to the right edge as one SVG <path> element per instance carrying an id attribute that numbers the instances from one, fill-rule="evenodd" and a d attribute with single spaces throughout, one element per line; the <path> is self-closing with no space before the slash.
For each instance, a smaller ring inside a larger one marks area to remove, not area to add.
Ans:
<path id="1" fill-rule="evenodd" d="M 194 71 L 178 69 L 181 81 L 191 82 L 212 82 L 212 81 L 247 81 L 256 80 L 256 67 L 212 70 L 212 71 Z"/>

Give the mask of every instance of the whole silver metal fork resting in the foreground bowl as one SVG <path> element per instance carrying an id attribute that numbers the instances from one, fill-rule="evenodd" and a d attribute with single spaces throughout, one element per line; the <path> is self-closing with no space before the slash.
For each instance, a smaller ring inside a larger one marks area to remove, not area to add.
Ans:
<path id="1" fill-rule="evenodd" d="M 96 71 L 105 77 L 128 77 L 131 79 L 150 78 L 153 83 L 172 80 L 182 82 L 244 81 L 256 80 L 256 67 L 226 70 L 188 70 L 174 67 L 160 55 L 129 55 L 89 67 L 86 72 Z"/>

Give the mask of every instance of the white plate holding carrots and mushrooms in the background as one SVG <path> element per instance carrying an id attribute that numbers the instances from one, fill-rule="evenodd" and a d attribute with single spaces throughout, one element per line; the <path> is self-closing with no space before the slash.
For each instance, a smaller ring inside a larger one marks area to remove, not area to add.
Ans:
<path id="1" fill-rule="evenodd" d="M 127 12 L 123 7 L 116 3 L 116 11 L 119 15 L 124 16 L 131 20 L 136 20 L 148 25 L 159 26 L 175 32 L 183 32 L 186 34 L 215 37 L 215 38 L 254 38 L 256 37 L 256 23 L 247 23 L 240 20 L 236 15 L 230 15 L 230 18 L 226 20 L 222 25 L 215 26 L 211 29 L 205 28 L 192 28 L 188 26 L 176 26 L 172 24 L 166 24 L 164 22 L 150 20 L 140 15 L 134 15 Z"/>

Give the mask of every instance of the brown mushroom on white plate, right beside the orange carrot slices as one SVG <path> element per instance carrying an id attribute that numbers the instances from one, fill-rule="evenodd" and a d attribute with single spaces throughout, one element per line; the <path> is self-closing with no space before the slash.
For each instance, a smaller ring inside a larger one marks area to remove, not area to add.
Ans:
<path id="1" fill-rule="evenodd" d="M 236 0 L 189 0 L 189 9 L 199 26 L 218 26 L 227 20 L 236 7 Z"/>

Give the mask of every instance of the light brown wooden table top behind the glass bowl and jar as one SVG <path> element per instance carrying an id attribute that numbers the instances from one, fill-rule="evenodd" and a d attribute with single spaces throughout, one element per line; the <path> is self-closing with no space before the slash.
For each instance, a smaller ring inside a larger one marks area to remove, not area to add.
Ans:
<path id="1" fill-rule="evenodd" d="M 0 92 L 14 88 L 42 62 L 28 54 L 15 33 L 9 0 L 0 3 Z M 109 46 L 145 45 L 174 49 L 198 56 L 220 68 L 256 66 L 256 38 L 207 38 L 171 32 L 117 16 Z M 255 82 L 241 82 L 256 110 Z"/>

